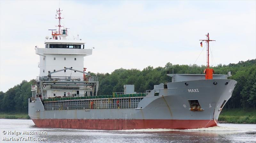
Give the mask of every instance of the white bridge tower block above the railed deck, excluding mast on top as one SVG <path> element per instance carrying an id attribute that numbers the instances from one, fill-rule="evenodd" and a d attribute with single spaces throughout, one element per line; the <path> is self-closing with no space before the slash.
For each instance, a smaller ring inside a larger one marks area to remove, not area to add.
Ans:
<path id="1" fill-rule="evenodd" d="M 47 76 L 48 71 L 57 71 L 64 67 L 73 67 L 73 69 L 83 71 L 84 57 L 92 54 L 92 49 L 84 49 L 84 44 L 76 39 L 46 39 L 44 48 L 36 48 L 36 54 L 40 56 L 38 63 L 40 76 Z M 70 75 L 82 77 L 83 73 L 67 70 L 52 74 L 52 76 Z"/>

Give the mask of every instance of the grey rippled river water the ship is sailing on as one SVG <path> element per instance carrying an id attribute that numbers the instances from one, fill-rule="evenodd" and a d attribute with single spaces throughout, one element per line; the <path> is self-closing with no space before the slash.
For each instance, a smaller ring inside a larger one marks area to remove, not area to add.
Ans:
<path id="1" fill-rule="evenodd" d="M 144 143 L 144 142 L 170 142 L 170 143 L 256 143 L 256 124 L 219 124 L 216 127 L 170 130 L 170 129 L 141 129 L 141 130 L 81 130 L 81 129 L 58 129 L 37 128 L 32 120 L 26 119 L 0 119 L 1 140 L 0 142 L 42 142 L 42 143 Z M 5 132 L 4 132 L 5 131 Z M 12 132 L 21 132 L 21 134 Z M 23 131 L 45 131 L 47 134 L 23 134 Z M 5 134 L 4 134 L 5 133 Z M 11 141 L 7 141 L 11 139 Z M 23 141 L 14 141 L 14 138 Z M 33 139 L 47 141 L 30 141 Z M 27 139 L 28 141 L 24 141 Z"/>

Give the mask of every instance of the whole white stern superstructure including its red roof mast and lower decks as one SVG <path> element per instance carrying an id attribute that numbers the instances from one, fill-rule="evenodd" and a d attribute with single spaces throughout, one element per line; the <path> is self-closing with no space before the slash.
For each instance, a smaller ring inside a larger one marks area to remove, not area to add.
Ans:
<path id="1" fill-rule="evenodd" d="M 45 37 L 44 48 L 35 48 L 40 57 L 37 80 L 47 82 L 31 86 L 33 97 L 84 97 L 94 95 L 94 91 L 97 95 L 98 77 L 90 76 L 84 68 L 84 57 L 92 54 L 92 48 L 86 49 L 78 37 L 68 38 L 68 28 L 61 29 L 60 9 L 57 14 L 58 31 L 53 29 L 52 36 Z"/>

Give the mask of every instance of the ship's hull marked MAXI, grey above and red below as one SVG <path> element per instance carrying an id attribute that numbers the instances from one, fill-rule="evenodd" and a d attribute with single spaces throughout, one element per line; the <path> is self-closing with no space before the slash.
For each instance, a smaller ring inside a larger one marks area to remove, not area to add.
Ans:
<path id="1" fill-rule="evenodd" d="M 236 81 L 209 79 L 166 84 L 168 88 L 159 84 L 135 109 L 45 111 L 42 101 L 36 97 L 35 102 L 28 104 L 28 114 L 38 127 L 103 130 L 211 127 L 217 125 L 220 111 L 231 97 Z M 200 104 L 198 110 L 191 106 L 195 101 Z"/>

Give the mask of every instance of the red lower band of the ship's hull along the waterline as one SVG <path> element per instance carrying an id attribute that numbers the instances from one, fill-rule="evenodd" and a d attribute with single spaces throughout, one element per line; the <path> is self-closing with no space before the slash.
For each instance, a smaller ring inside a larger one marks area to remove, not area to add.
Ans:
<path id="1" fill-rule="evenodd" d="M 97 130 L 197 129 L 216 126 L 214 120 L 159 119 L 33 119 L 37 127 Z"/>

